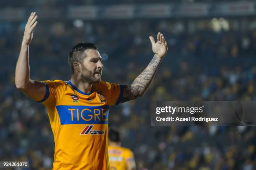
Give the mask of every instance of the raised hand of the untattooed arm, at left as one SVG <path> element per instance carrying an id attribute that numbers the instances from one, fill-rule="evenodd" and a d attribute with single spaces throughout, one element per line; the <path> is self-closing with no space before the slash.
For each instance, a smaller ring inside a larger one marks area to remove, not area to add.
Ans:
<path id="1" fill-rule="evenodd" d="M 33 29 L 37 25 L 36 21 L 37 15 L 35 12 L 31 13 L 30 17 L 28 18 L 28 23 L 26 24 L 24 36 L 22 40 L 23 45 L 29 45 L 31 43 L 31 40 L 33 38 Z"/>

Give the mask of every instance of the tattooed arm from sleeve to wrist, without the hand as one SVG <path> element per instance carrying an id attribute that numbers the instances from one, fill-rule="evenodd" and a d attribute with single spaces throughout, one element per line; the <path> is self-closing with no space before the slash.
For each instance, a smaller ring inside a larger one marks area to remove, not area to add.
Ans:
<path id="1" fill-rule="evenodd" d="M 131 85 L 124 85 L 123 98 L 121 99 L 120 103 L 136 99 L 146 92 L 148 86 L 153 80 L 160 62 L 161 59 L 154 55 L 146 69 L 141 72 L 141 74 L 133 81 L 133 83 Z"/>

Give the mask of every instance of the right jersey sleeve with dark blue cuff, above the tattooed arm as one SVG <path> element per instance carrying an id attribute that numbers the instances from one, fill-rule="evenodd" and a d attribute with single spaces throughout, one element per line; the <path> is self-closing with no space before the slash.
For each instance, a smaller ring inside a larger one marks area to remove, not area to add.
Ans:
<path id="1" fill-rule="evenodd" d="M 107 86 L 106 97 L 108 105 L 118 105 L 123 96 L 123 85 L 112 82 L 104 82 Z"/>

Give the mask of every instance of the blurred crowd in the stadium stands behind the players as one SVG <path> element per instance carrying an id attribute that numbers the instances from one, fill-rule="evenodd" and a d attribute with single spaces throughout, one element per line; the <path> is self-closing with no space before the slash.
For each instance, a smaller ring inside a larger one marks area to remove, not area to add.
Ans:
<path id="1" fill-rule="evenodd" d="M 40 16 L 39 16 L 40 18 Z M 15 63 L 26 21 L 0 23 L 0 160 L 28 160 L 32 170 L 52 167 L 54 140 L 46 109 L 15 88 Z M 42 21 L 30 45 L 31 79 L 69 80 L 67 58 L 79 42 L 98 45 L 102 79 L 131 84 L 153 57 L 148 36 L 168 42 L 146 94 L 110 108 L 138 170 L 256 169 L 253 126 L 151 126 L 156 100 L 256 100 L 256 29 L 172 29 L 171 20 Z"/>

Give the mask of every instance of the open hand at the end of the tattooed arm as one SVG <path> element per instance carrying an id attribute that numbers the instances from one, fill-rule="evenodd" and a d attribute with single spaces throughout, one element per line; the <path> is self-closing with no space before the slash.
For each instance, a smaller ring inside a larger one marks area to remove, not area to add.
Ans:
<path id="1" fill-rule="evenodd" d="M 166 52 L 168 50 L 167 42 L 164 39 L 163 34 L 161 32 L 158 32 L 157 34 L 157 42 L 155 42 L 154 37 L 149 37 L 151 44 L 152 44 L 152 50 L 161 59 L 166 55 Z"/>

